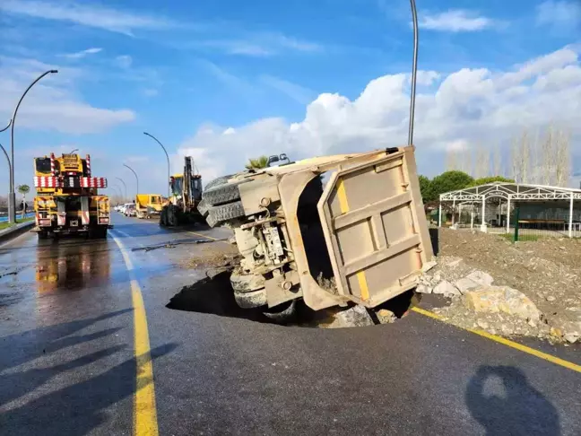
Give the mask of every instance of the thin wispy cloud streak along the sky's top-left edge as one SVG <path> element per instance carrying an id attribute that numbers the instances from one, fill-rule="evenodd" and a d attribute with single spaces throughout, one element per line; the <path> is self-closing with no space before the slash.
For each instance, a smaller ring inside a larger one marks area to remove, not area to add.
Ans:
<path id="1" fill-rule="evenodd" d="M 74 1 L 3 0 L 0 11 L 38 19 L 73 22 L 87 27 L 133 35 L 136 30 L 156 30 L 175 24 L 161 17 L 129 13 L 98 4 Z"/>

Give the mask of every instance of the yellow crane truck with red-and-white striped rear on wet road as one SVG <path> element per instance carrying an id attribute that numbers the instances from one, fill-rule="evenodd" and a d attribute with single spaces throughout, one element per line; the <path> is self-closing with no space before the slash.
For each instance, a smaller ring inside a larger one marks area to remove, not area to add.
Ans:
<path id="1" fill-rule="evenodd" d="M 39 239 L 63 233 L 84 233 L 91 238 L 107 238 L 112 228 L 108 196 L 98 189 L 107 179 L 91 176 L 91 156 L 54 153 L 34 159 L 33 231 Z"/>

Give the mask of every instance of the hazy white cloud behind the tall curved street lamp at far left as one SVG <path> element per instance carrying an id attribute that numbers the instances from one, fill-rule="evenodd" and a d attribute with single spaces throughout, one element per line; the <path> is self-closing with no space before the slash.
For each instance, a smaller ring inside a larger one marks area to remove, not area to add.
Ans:
<path id="1" fill-rule="evenodd" d="M 43 78 L 22 101 L 19 126 L 73 134 L 99 133 L 135 118 L 132 110 L 95 108 L 70 91 L 82 76 L 82 70 L 48 65 L 35 59 L 0 57 L 0 61 L 0 119 L 10 118 L 32 78 L 52 68 L 59 73 Z"/>

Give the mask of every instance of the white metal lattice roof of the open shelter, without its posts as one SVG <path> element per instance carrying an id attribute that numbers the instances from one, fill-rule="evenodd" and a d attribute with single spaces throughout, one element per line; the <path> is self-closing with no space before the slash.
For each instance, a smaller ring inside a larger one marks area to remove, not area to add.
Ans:
<path id="1" fill-rule="evenodd" d="M 494 182 L 440 194 L 440 201 L 482 201 L 499 196 L 511 200 L 581 200 L 581 189 L 524 183 Z"/>

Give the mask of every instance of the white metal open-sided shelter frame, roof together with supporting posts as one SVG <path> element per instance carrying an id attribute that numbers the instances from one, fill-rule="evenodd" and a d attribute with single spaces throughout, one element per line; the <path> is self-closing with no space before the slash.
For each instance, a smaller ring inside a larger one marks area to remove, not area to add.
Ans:
<path id="1" fill-rule="evenodd" d="M 438 227 L 442 225 L 442 202 L 451 201 L 455 204 L 458 202 L 481 202 L 481 231 L 486 231 L 485 207 L 487 198 L 505 198 L 507 200 L 507 232 L 510 226 L 510 202 L 517 201 L 534 201 L 534 200 L 569 200 L 569 217 L 568 217 L 568 236 L 572 237 L 573 228 L 573 201 L 581 200 L 581 189 L 570 187 L 548 187 L 543 185 L 529 185 L 525 183 L 494 182 L 480 185 L 477 187 L 464 187 L 455 191 L 440 194 Z M 452 218 L 454 222 L 454 215 Z"/>

